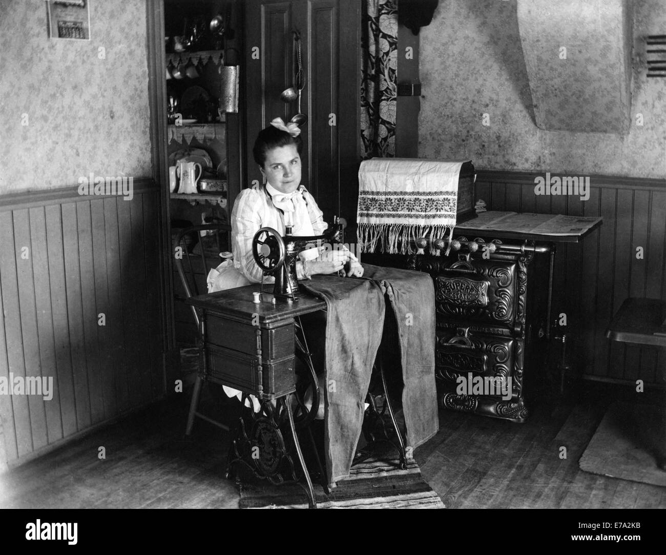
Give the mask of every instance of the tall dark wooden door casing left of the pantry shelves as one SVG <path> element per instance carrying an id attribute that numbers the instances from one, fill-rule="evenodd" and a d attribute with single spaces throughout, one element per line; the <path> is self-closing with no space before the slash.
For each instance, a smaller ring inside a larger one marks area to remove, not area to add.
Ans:
<path id="1" fill-rule="evenodd" d="M 149 70 L 149 99 L 151 107 L 151 150 L 153 179 L 159 188 L 159 247 L 160 276 L 162 281 L 162 329 L 163 352 L 175 347 L 173 282 L 171 271 L 170 213 L 168 195 L 168 159 L 166 128 L 166 80 L 165 80 L 165 5 L 164 0 L 148 0 L 147 41 Z"/>

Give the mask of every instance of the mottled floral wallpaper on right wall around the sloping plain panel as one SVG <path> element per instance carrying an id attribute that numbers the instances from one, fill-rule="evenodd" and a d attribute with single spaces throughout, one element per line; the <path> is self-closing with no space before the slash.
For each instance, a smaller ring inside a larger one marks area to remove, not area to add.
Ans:
<path id="1" fill-rule="evenodd" d="M 666 34 L 666 3 L 637 2 L 633 13 L 629 133 L 544 131 L 535 124 L 516 2 L 440 1 L 420 34 L 419 157 L 472 159 L 477 169 L 663 179 L 666 79 L 645 77 L 643 37 Z"/>

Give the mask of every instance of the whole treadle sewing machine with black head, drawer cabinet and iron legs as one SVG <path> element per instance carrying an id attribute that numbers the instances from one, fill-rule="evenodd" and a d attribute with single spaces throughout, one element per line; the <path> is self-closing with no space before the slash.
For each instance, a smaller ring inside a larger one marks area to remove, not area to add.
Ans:
<path id="1" fill-rule="evenodd" d="M 306 490 L 310 507 L 316 507 L 316 500 L 306 455 L 326 492 L 328 486 L 317 449 L 304 454 L 298 438 L 299 432 L 306 434 L 314 447 L 310 424 L 320 412 L 323 394 L 300 316 L 326 310 L 326 302 L 298 284 L 296 261 L 300 252 L 322 241 L 341 242 L 342 225 L 336 223 L 324 235 L 314 237 L 282 237 L 274 229 L 262 228 L 252 250 L 262 271 L 276 277 L 273 294 L 256 292 L 256 284 L 250 284 L 186 300 L 199 314 L 200 371 L 212 382 L 242 391 L 242 404 L 251 407 L 251 396 L 259 404 L 258 412 L 241 409 L 227 476 L 236 474 L 240 465 L 274 484 L 296 482 Z M 380 360 L 378 366 L 386 394 Z M 400 452 L 400 465 L 406 468 L 404 439 L 388 395 L 378 408 L 368 394 L 368 404 L 364 436 L 371 444 L 392 442 Z M 387 411 L 392 427 L 382 418 Z M 303 477 L 306 484 L 300 483 Z"/>

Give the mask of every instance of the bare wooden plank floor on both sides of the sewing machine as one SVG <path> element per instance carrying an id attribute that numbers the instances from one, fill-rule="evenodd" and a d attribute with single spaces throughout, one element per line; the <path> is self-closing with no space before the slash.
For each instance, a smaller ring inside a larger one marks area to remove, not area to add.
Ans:
<path id="1" fill-rule="evenodd" d="M 237 507 L 236 488 L 223 478 L 227 434 L 199 420 L 185 439 L 186 401 L 165 402 L 1 475 L 0 507 Z M 608 402 L 541 402 L 525 424 L 442 410 L 440 432 L 415 457 L 450 508 L 666 508 L 666 488 L 579 469 Z"/>

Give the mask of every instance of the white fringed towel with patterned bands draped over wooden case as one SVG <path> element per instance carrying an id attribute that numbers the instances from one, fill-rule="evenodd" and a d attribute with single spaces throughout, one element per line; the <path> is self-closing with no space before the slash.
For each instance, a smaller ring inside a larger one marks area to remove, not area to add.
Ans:
<path id="1" fill-rule="evenodd" d="M 358 239 L 364 252 L 410 254 L 414 241 L 452 239 L 466 161 L 373 158 L 358 170 Z M 448 243 L 450 245 L 450 243 Z M 419 252 L 420 249 L 419 249 Z M 447 248 L 448 253 L 448 248 Z"/>

